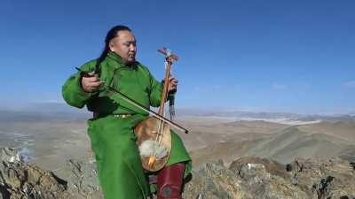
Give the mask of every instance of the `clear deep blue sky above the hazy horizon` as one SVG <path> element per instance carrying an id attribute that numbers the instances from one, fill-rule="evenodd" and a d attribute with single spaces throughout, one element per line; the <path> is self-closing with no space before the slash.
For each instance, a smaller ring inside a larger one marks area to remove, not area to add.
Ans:
<path id="1" fill-rule="evenodd" d="M 0 108 L 63 103 L 63 83 L 99 57 L 115 25 L 132 29 L 158 80 L 156 50 L 180 57 L 177 107 L 355 112 L 353 0 L 2 0 Z"/>

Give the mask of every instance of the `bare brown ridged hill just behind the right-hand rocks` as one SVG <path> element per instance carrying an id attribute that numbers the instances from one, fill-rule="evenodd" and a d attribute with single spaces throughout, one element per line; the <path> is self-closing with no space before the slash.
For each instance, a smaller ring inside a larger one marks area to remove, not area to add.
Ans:
<path id="1" fill-rule="evenodd" d="M 280 132 L 264 134 L 255 139 L 229 137 L 225 142 L 193 150 L 191 155 L 195 165 L 212 160 L 212 157 L 219 157 L 228 163 L 241 156 L 274 158 L 281 163 L 288 163 L 295 157 L 329 158 L 346 154 L 347 160 L 355 161 L 354 148 L 353 142 L 338 136 L 304 132 L 298 126 L 289 126 Z"/>

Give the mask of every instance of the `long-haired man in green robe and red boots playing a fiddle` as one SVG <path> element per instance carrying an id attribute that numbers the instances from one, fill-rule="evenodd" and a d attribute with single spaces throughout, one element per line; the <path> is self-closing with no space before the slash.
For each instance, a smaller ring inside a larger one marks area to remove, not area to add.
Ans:
<path id="1" fill-rule="evenodd" d="M 138 199 L 151 195 L 143 171 L 133 128 L 147 113 L 106 90 L 103 84 L 149 108 L 157 107 L 162 83 L 146 66 L 136 61 L 136 38 L 129 27 L 116 26 L 106 34 L 101 56 L 81 66 L 64 84 L 65 101 L 77 108 L 87 106 L 94 117 L 88 119 L 88 134 L 94 152 L 99 182 L 105 199 Z M 170 78 L 169 91 L 177 80 Z M 171 151 L 167 165 L 156 174 L 159 199 L 181 198 L 183 178 L 191 172 L 191 158 L 177 134 L 171 132 Z"/>

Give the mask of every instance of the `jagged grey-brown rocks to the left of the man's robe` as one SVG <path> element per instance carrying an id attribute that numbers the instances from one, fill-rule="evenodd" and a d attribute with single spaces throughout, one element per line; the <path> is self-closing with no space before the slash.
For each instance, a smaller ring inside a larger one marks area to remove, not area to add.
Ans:
<path id="1" fill-rule="evenodd" d="M 20 151 L 0 149 L 0 199 L 103 198 L 93 162 L 68 160 L 59 177 L 23 162 Z"/>

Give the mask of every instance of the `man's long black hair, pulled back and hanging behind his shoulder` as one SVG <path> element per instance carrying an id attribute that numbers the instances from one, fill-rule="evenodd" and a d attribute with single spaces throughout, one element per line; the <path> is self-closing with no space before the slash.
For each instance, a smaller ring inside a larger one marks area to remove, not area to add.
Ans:
<path id="1" fill-rule="evenodd" d="M 97 58 L 97 63 L 95 66 L 95 73 L 99 73 L 99 65 L 101 64 L 102 61 L 104 61 L 104 59 L 107 56 L 107 53 L 109 52 L 110 48 L 109 48 L 109 43 L 112 39 L 114 39 L 114 37 L 117 36 L 118 32 L 120 31 L 130 31 L 130 27 L 126 27 L 126 26 L 122 26 L 122 25 L 118 25 L 115 27 L 112 27 L 106 34 L 106 38 L 105 38 L 105 47 L 104 50 L 102 50 L 101 55 Z"/>

